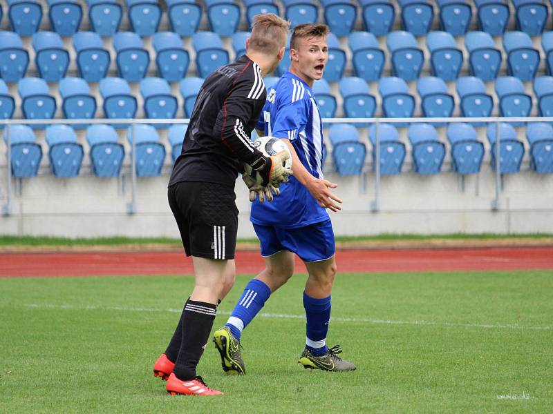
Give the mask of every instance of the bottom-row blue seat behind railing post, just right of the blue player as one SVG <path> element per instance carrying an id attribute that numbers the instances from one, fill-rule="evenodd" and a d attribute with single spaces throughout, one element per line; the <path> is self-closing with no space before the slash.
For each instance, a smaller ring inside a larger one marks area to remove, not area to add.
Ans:
<path id="1" fill-rule="evenodd" d="M 377 127 L 373 124 L 368 128 L 368 138 L 373 146 L 373 170 L 376 166 L 376 132 Z M 380 174 L 395 175 L 402 172 L 405 159 L 405 144 L 400 141 L 400 135 L 395 126 L 391 124 L 379 124 L 378 135 L 380 139 Z"/>

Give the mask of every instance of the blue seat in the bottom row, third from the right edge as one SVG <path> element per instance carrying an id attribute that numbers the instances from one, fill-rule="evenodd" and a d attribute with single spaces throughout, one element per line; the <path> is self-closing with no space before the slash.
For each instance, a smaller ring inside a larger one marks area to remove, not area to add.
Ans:
<path id="1" fill-rule="evenodd" d="M 449 124 L 447 139 L 451 145 L 453 171 L 460 175 L 478 174 L 484 158 L 484 144 L 476 138 L 476 130 L 464 122 Z"/>

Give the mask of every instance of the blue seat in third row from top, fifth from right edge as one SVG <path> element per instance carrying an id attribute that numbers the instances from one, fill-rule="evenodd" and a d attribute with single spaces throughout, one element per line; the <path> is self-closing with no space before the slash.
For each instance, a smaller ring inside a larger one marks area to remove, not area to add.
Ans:
<path id="1" fill-rule="evenodd" d="M 387 118 L 410 118 L 415 110 L 415 98 L 409 95 L 407 83 L 399 77 L 383 77 L 378 81 L 382 110 Z M 400 126 L 399 124 L 397 124 Z"/>

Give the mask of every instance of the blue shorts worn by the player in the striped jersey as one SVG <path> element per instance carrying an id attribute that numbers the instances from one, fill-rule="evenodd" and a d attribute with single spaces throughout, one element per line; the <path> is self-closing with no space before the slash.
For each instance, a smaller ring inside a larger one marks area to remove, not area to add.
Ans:
<path id="1" fill-rule="evenodd" d="M 299 228 L 281 228 L 254 224 L 261 242 L 261 256 L 268 257 L 288 250 L 303 262 L 330 259 L 335 252 L 334 231 L 329 220 Z"/>

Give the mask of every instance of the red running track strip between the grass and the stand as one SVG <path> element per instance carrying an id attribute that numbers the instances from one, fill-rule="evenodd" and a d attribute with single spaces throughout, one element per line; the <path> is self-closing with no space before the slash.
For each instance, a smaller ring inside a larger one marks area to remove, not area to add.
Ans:
<path id="1" fill-rule="evenodd" d="M 385 273 L 447 270 L 553 269 L 553 247 L 414 250 L 338 250 L 339 272 Z M 236 253 L 236 273 L 255 274 L 263 259 Z M 305 273 L 297 259 L 296 271 Z M 0 253 L 0 277 L 191 275 L 183 253 Z"/>

